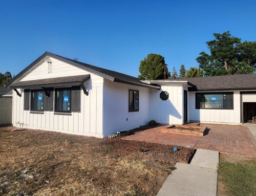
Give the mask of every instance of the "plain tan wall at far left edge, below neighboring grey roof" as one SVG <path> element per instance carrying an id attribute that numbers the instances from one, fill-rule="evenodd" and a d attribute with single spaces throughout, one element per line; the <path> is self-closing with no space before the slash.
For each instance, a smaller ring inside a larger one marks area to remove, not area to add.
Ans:
<path id="1" fill-rule="evenodd" d="M 12 98 L 0 98 L 0 124 L 12 123 Z"/>

